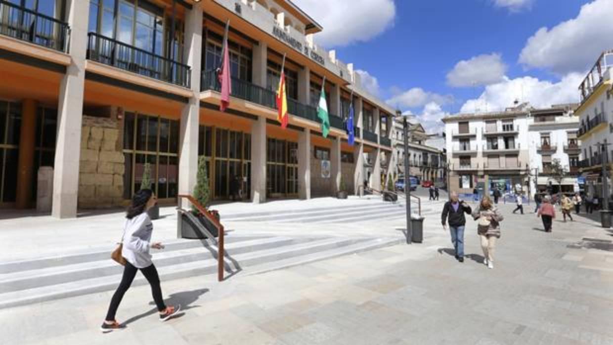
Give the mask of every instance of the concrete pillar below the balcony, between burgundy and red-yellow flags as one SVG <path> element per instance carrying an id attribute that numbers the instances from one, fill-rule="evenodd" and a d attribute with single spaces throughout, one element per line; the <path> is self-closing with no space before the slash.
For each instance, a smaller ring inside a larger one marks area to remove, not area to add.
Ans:
<path id="1" fill-rule="evenodd" d="M 266 118 L 251 126 L 251 201 L 266 201 Z M 299 159 L 300 160 L 300 159 Z"/>

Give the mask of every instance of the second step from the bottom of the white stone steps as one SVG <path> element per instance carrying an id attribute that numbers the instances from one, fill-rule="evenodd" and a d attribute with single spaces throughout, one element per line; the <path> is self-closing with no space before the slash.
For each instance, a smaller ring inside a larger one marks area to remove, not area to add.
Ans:
<path id="1" fill-rule="evenodd" d="M 278 248 L 299 242 L 300 239 L 289 237 L 257 238 L 255 240 L 227 243 L 224 248 L 230 255 L 253 252 L 263 249 Z M 302 239 L 304 241 L 304 239 Z M 199 246 L 187 249 L 175 249 L 153 252 L 156 267 L 176 265 L 178 263 L 209 259 L 217 255 L 215 247 L 205 248 L 200 241 L 194 240 Z M 213 254 L 214 253 L 214 254 Z M 17 271 L 0 275 L 0 294 L 4 292 L 26 290 L 34 287 L 62 284 L 64 282 L 116 275 L 123 267 L 110 259 L 107 252 L 103 260 L 73 263 L 55 267 L 45 267 L 34 270 Z"/>

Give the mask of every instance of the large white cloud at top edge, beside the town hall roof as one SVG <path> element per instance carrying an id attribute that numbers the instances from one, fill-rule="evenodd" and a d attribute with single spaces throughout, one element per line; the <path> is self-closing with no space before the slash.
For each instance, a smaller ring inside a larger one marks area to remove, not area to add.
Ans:
<path id="1" fill-rule="evenodd" d="M 366 42 L 394 25 L 393 0 L 294 0 L 324 27 L 315 34 L 316 44 L 343 47 Z M 361 18 L 361 19 L 360 19 Z"/>

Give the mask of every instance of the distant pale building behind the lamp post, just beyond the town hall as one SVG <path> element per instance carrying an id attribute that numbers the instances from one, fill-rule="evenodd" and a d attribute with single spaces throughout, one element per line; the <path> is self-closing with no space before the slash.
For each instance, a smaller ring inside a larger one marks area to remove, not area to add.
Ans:
<path id="1" fill-rule="evenodd" d="M 443 150 L 435 146 L 427 145 L 433 135 L 427 134 L 424 127 L 419 123 L 409 123 L 408 146 L 409 146 L 409 175 L 417 176 L 420 180 L 435 181 L 444 184 L 445 162 Z M 405 141 L 403 119 L 400 116 L 394 118 L 392 130 L 392 157 L 390 174 L 394 176 L 405 174 Z M 441 184 L 442 185 L 442 184 Z"/>

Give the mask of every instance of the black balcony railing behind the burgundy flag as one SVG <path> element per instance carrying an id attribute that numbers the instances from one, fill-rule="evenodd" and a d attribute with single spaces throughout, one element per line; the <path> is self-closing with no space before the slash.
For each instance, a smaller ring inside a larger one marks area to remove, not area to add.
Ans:
<path id="1" fill-rule="evenodd" d="M 202 72 L 202 79 L 200 82 L 201 91 L 205 90 L 221 90 L 221 84 L 215 70 L 209 70 Z M 276 93 L 275 91 L 262 88 L 255 84 L 245 82 L 239 78 L 232 77 L 232 89 L 230 90 L 232 96 L 248 100 L 259 105 L 264 105 L 268 108 L 276 109 Z M 288 105 L 289 106 L 289 105 Z"/>

